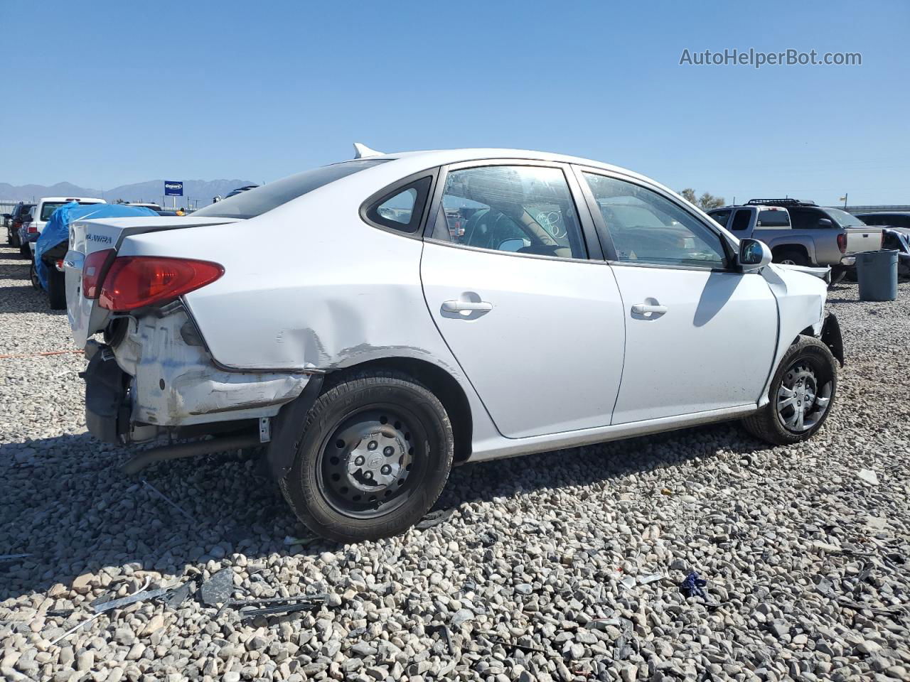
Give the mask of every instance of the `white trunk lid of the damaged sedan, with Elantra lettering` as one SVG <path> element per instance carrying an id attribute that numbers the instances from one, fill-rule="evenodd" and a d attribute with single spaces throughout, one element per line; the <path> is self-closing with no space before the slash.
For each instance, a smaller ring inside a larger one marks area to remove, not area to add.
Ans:
<path id="1" fill-rule="evenodd" d="M 231 218 L 194 218 L 193 216 L 139 216 L 75 220 L 69 226 L 69 250 L 64 259 L 66 273 L 66 314 L 73 330 L 76 346 L 84 348 L 88 338 L 102 331 L 110 319 L 110 311 L 98 306 L 97 299 L 86 298 L 82 291 L 83 267 L 86 257 L 96 251 L 119 250 L 124 239 L 133 235 L 187 227 L 235 223 Z"/>

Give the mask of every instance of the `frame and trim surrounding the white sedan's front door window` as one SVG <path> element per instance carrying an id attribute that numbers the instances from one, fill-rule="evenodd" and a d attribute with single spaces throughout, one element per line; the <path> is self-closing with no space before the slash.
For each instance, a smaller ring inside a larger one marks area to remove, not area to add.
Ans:
<path id="1" fill-rule="evenodd" d="M 578 184 L 581 186 L 581 192 L 584 194 L 586 205 L 588 206 L 588 211 L 591 214 L 591 219 L 594 223 L 594 226 L 596 226 L 598 236 L 601 238 L 606 261 L 610 264 L 610 266 L 653 267 L 664 270 L 700 270 L 702 272 L 740 272 L 740 268 L 736 265 L 736 249 L 733 246 L 733 243 L 730 241 L 730 237 L 725 234 L 725 231 L 717 223 L 716 220 L 713 220 L 711 217 L 709 217 L 708 220 L 705 221 L 701 216 L 694 214 L 691 210 L 685 206 L 682 206 L 679 200 L 675 196 L 672 196 L 672 194 L 668 193 L 666 190 L 662 189 L 659 186 L 643 182 L 640 178 L 628 176 L 624 173 L 606 170 L 604 168 L 598 168 L 591 165 L 572 164 L 571 166 L 572 170 L 577 176 Z M 584 179 L 585 173 L 591 173 L 591 175 L 594 176 L 609 177 L 612 180 L 619 180 L 630 185 L 639 186 L 642 187 L 642 189 L 647 189 L 658 196 L 662 196 L 662 198 L 669 201 L 673 206 L 676 206 L 687 216 L 692 217 L 695 221 L 700 223 L 711 234 L 720 240 L 721 248 L 723 248 L 723 253 L 727 257 L 727 266 L 684 266 L 682 264 L 638 263 L 627 260 L 619 260 L 619 258 L 616 256 L 616 248 L 613 246 L 610 230 L 607 229 L 607 224 L 603 220 L 601 209 L 599 206 L 597 206 L 597 201 L 594 198 L 593 192 L 591 192 L 591 186 L 589 186 L 587 180 Z"/>

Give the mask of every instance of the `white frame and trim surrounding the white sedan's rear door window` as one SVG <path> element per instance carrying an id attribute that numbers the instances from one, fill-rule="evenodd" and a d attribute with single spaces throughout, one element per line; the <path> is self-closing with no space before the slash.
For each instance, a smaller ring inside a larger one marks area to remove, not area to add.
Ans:
<path id="1" fill-rule="evenodd" d="M 433 237 L 433 230 L 436 221 L 439 219 L 440 206 L 442 204 L 442 195 L 445 191 L 446 179 L 451 171 L 464 170 L 466 168 L 484 168 L 490 165 L 524 165 L 540 168 L 557 168 L 561 170 L 566 187 L 569 189 L 569 198 L 575 207 L 575 215 L 578 216 L 579 226 L 581 229 L 581 248 L 584 255 L 581 257 L 573 256 L 544 256 L 541 254 L 519 254 L 514 251 L 499 251 L 497 249 L 483 248 L 481 246 L 470 246 L 468 244 L 456 244 L 454 242 L 436 239 Z M 591 220 L 588 211 L 582 210 L 579 196 L 580 188 L 577 185 L 578 180 L 571 171 L 571 165 L 558 161 L 540 161 L 537 159 L 512 159 L 512 158 L 490 158 L 490 159 L 471 159 L 470 161 L 460 161 L 455 164 L 443 165 L 440 167 L 439 176 L 433 187 L 432 199 L 430 200 L 430 210 L 427 215 L 426 223 L 423 226 L 423 239 L 432 244 L 442 246 L 451 246 L 453 248 L 466 249 L 468 251 L 478 251 L 483 254 L 498 254 L 500 256 L 518 256 L 520 258 L 543 258 L 546 260 L 570 261 L 572 263 L 591 263 L 603 262 L 600 244 L 597 239 L 596 228 Z"/>

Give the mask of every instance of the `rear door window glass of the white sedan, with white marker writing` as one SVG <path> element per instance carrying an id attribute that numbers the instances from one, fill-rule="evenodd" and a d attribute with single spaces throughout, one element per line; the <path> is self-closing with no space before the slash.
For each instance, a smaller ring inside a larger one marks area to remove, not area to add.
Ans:
<path id="1" fill-rule="evenodd" d="M 432 238 L 493 251 L 586 257 L 560 168 L 490 165 L 450 171 Z"/>

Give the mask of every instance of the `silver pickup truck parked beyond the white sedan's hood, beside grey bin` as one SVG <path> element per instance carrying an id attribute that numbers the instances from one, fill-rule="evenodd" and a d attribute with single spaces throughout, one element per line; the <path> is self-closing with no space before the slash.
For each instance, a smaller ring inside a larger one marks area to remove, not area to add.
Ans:
<path id="1" fill-rule="evenodd" d="M 791 216 L 801 208 L 802 203 L 793 199 L 753 199 L 741 206 L 715 208 L 708 215 L 741 239 L 762 240 L 771 248 L 775 263 L 828 266 L 832 281 L 842 279 L 854 264 L 854 257 L 847 256 L 846 230 L 833 225 L 825 229 L 797 227 Z"/>

